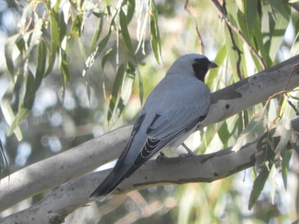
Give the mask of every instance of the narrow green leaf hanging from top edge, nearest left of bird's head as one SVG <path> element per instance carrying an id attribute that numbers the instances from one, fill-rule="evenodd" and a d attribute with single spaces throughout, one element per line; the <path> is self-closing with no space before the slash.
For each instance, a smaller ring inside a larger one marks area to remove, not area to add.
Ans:
<path id="1" fill-rule="evenodd" d="M 150 34 L 152 35 L 151 45 L 156 61 L 160 64 L 159 55 L 161 56 L 161 40 L 158 27 L 158 11 L 155 2 L 151 0 L 151 14 L 150 14 Z"/>

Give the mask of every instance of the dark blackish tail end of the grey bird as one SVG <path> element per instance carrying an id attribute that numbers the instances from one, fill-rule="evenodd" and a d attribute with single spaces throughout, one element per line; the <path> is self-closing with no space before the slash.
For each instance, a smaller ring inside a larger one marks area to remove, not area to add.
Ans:
<path id="1" fill-rule="evenodd" d="M 105 199 L 111 192 L 125 179 L 126 169 L 124 172 L 115 172 L 114 170 L 103 180 L 103 182 L 95 189 L 89 198 Z"/>

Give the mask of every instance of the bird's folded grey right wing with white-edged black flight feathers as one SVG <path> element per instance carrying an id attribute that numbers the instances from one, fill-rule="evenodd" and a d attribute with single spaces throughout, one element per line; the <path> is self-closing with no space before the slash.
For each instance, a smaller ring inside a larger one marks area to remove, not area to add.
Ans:
<path id="1" fill-rule="evenodd" d="M 205 119 L 210 107 L 210 89 L 204 83 L 202 84 L 202 88 L 198 85 L 192 88 L 193 85 L 191 85 L 188 89 L 172 91 L 162 100 L 160 96 L 161 106 L 146 130 L 146 142 L 126 177 L 129 177 L 159 150 L 179 139 L 198 122 Z M 189 98 L 186 99 L 186 96 Z M 153 112 L 151 108 L 145 108 L 144 111 Z"/>

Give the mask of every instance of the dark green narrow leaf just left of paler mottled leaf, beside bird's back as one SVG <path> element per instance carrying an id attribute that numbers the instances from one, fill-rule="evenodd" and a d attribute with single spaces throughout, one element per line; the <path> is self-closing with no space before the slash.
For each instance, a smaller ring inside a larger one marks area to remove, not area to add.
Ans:
<path id="1" fill-rule="evenodd" d="M 118 92 L 120 90 L 120 87 L 123 83 L 123 77 L 125 75 L 125 66 L 124 64 L 121 64 L 118 68 L 116 77 L 115 77 L 115 81 L 112 87 L 112 93 L 111 93 L 111 99 L 110 99 L 110 103 L 109 103 L 109 111 L 108 111 L 108 116 L 107 116 L 107 120 L 108 122 L 111 122 L 112 116 L 115 115 L 115 110 L 116 110 L 116 104 L 117 104 L 117 100 L 118 100 Z M 113 123 L 115 123 L 115 121 L 112 120 Z"/>

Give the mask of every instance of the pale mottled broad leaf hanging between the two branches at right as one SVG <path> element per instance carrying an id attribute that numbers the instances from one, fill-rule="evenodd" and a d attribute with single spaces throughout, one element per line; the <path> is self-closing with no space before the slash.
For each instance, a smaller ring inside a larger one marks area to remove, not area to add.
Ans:
<path id="1" fill-rule="evenodd" d="M 259 136 L 261 136 L 266 129 L 268 123 L 268 117 L 266 116 L 266 107 L 260 110 L 249 122 L 246 128 L 242 131 L 236 144 L 232 148 L 232 151 L 239 151 L 239 149 L 249 143 L 253 142 Z"/>

